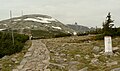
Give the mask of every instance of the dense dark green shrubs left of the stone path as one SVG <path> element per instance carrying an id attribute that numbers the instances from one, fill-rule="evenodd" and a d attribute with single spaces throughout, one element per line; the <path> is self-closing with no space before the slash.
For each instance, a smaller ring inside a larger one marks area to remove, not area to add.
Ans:
<path id="1" fill-rule="evenodd" d="M 28 39 L 27 35 L 14 33 L 13 44 L 11 33 L 0 32 L 0 57 L 20 52 Z"/>

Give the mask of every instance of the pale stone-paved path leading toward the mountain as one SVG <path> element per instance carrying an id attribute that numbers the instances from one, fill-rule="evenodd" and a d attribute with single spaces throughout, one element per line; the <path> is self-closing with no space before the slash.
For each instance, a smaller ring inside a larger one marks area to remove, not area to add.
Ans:
<path id="1" fill-rule="evenodd" d="M 20 65 L 12 71 L 50 71 L 47 69 L 49 60 L 49 51 L 45 44 L 40 40 L 32 40 L 32 46 L 24 55 Z"/>

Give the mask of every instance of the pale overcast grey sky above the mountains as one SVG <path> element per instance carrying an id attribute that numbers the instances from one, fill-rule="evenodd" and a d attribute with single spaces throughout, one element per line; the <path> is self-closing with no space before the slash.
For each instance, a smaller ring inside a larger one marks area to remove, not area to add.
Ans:
<path id="1" fill-rule="evenodd" d="M 64 24 L 101 27 L 108 12 L 115 26 L 120 26 L 120 0 L 0 0 L 0 20 L 23 14 L 52 16 Z"/>

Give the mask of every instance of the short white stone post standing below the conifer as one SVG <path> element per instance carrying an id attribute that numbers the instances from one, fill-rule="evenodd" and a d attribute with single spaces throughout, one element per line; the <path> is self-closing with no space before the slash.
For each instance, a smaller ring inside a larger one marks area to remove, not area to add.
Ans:
<path id="1" fill-rule="evenodd" d="M 105 53 L 107 55 L 112 55 L 112 39 L 111 36 L 105 36 L 104 37 L 104 43 L 105 43 Z"/>

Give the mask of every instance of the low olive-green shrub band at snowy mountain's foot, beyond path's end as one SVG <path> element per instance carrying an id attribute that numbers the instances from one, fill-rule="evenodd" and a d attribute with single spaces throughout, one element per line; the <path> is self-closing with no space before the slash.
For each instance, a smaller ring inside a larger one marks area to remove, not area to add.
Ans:
<path id="1" fill-rule="evenodd" d="M 57 38 L 57 37 L 65 37 L 65 36 L 71 36 L 69 33 L 64 33 L 61 31 L 44 31 L 44 30 L 31 30 L 32 36 L 34 39 L 39 39 L 39 38 Z"/>

